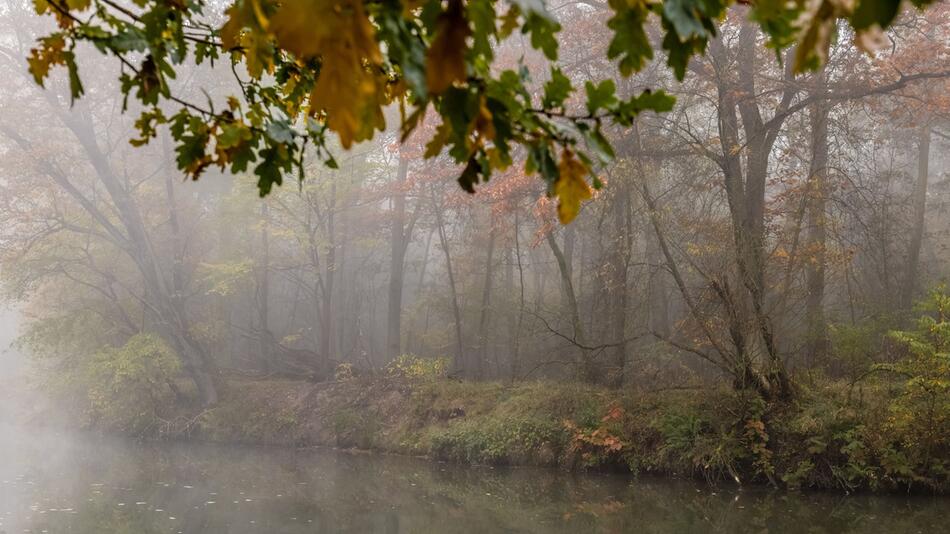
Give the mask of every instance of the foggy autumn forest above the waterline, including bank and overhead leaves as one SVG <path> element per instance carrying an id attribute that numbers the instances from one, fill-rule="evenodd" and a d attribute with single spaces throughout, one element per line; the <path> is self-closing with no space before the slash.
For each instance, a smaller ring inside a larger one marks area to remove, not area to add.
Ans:
<path id="1" fill-rule="evenodd" d="M 950 4 L 325 4 L 0 4 L 17 412 L 950 489 Z"/>

